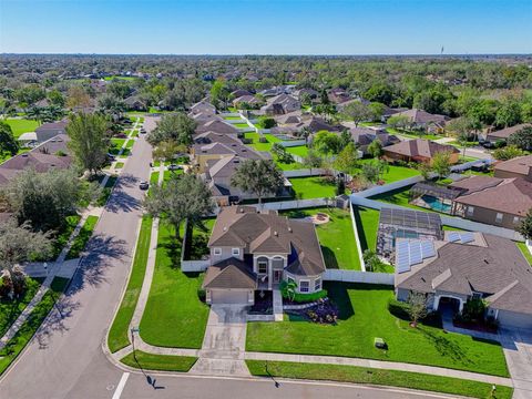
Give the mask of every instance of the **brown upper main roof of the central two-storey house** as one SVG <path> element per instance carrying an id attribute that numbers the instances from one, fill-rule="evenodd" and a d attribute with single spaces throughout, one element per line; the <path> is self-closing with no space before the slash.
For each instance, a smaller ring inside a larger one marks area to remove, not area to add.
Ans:
<path id="1" fill-rule="evenodd" d="M 289 219 L 276 212 L 257 213 L 252 206 L 222 208 L 208 247 L 244 247 L 245 254 L 288 255 L 287 270 L 316 276 L 325 272 L 318 236 L 313 223 Z"/>

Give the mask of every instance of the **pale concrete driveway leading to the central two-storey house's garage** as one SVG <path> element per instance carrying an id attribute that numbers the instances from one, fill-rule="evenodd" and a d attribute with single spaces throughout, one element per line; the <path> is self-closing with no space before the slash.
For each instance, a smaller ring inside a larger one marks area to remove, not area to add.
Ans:
<path id="1" fill-rule="evenodd" d="M 249 376 L 244 361 L 247 308 L 213 305 L 208 315 L 200 359 L 192 372 Z"/>

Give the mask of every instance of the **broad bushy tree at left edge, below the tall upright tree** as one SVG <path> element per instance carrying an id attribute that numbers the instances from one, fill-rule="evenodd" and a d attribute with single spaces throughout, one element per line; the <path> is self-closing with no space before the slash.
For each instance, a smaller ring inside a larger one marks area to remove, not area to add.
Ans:
<path id="1" fill-rule="evenodd" d="M 48 232 L 63 226 L 80 203 L 99 193 L 95 187 L 86 190 L 73 170 L 39 173 L 30 167 L 3 185 L 0 194 L 19 223 L 29 222 L 35 231 Z"/>

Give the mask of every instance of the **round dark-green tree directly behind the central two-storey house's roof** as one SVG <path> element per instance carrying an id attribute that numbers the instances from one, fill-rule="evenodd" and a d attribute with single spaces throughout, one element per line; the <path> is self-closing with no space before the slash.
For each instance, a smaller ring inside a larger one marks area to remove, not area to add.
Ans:
<path id="1" fill-rule="evenodd" d="M 231 184 L 258 197 L 258 204 L 266 194 L 275 194 L 283 187 L 283 173 L 272 161 L 245 160 L 236 168 Z"/>

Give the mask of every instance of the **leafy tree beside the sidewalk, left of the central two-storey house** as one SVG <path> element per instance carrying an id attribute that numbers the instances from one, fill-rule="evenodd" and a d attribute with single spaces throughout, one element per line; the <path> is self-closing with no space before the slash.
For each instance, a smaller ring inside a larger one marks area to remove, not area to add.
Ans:
<path id="1" fill-rule="evenodd" d="M 174 227 L 177 239 L 181 239 L 180 228 L 185 219 L 202 227 L 202 218 L 214 209 L 208 186 L 190 173 L 173 175 L 164 185 L 152 186 L 144 206 L 152 216 L 164 216 Z"/>

